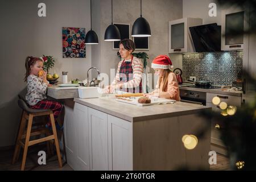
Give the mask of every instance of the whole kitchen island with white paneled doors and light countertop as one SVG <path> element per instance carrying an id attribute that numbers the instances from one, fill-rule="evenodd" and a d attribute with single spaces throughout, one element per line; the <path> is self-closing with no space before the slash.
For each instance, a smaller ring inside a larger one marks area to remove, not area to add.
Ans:
<path id="1" fill-rule="evenodd" d="M 208 106 L 137 106 L 114 98 L 61 101 L 68 164 L 75 170 L 209 169 L 210 126 L 197 115 Z M 197 146 L 187 150 L 182 137 L 204 127 Z"/>

